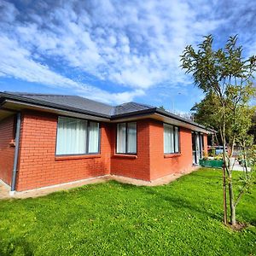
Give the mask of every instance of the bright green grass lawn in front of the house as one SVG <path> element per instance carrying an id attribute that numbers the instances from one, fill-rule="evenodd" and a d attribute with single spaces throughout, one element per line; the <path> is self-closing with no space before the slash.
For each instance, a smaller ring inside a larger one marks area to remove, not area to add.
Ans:
<path id="1" fill-rule="evenodd" d="M 236 175 L 237 177 L 237 175 Z M 158 187 L 116 182 L 0 201 L 0 255 L 254 255 L 256 190 L 222 224 L 221 172 Z"/>

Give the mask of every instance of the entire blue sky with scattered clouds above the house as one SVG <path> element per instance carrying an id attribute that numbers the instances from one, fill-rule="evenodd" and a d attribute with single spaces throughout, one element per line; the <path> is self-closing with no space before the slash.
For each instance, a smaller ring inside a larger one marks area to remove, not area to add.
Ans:
<path id="1" fill-rule="evenodd" d="M 0 90 L 143 102 L 179 112 L 203 97 L 179 55 L 212 33 L 256 54 L 255 1 L 0 0 Z"/>

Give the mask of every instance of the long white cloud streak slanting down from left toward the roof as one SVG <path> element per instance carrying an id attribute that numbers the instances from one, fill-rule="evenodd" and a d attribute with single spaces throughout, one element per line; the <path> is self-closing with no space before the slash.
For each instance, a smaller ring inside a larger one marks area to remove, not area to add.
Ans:
<path id="1" fill-rule="evenodd" d="M 101 102 L 129 102 L 134 96 L 143 95 L 142 90 L 112 94 L 96 87 L 67 79 L 49 70 L 48 66 L 33 61 L 28 50 L 20 48 L 15 40 L 6 37 L 0 38 L 0 49 L 3 49 L 0 51 L 0 77 L 14 77 L 53 87 L 71 88 L 79 92 L 81 96 L 89 96 Z"/>

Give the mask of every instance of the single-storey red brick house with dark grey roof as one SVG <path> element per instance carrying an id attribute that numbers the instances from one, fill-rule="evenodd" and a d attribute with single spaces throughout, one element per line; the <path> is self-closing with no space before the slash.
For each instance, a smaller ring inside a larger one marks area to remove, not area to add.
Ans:
<path id="1" fill-rule="evenodd" d="M 0 179 L 12 191 L 118 175 L 153 181 L 198 164 L 212 131 L 135 102 L 0 93 Z"/>

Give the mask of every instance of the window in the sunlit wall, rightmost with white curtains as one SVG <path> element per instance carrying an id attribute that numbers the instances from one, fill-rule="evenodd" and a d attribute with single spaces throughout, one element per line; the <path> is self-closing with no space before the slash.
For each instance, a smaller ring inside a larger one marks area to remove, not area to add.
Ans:
<path id="1" fill-rule="evenodd" d="M 173 153 L 179 153 L 178 127 L 164 124 L 164 154 Z"/>

